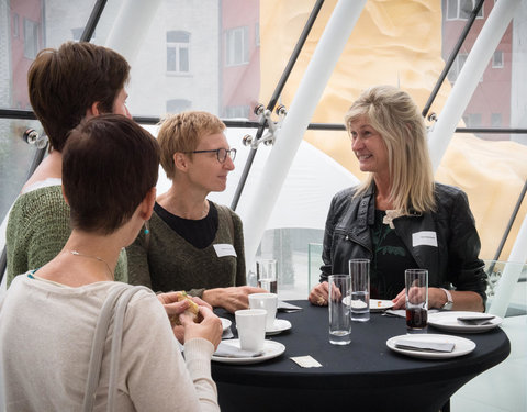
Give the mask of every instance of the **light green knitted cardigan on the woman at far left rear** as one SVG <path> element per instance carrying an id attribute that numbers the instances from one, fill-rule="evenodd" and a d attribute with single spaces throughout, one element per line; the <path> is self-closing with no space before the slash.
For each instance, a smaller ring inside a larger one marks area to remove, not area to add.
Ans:
<path id="1" fill-rule="evenodd" d="M 5 232 L 8 249 L 8 286 L 16 275 L 37 269 L 63 249 L 71 227 L 69 207 L 60 185 L 25 192 L 11 209 Z M 126 252 L 115 267 L 115 280 L 127 281 Z"/>

